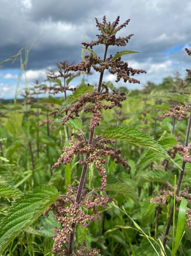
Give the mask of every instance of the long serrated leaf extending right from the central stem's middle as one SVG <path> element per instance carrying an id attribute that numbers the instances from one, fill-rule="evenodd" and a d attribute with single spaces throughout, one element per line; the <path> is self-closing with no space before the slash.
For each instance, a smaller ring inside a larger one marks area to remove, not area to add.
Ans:
<path id="1" fill-rule="evenodd" d="M 108 139 L 124 140 L 133 145 L 148 148 L 149 150 L 160 154 L 165 159 L 168 159 L 170 162 L 181 169 L 181 167 L 173 161 L 173 159 L 167 154 L 164 148 L 162 148 L 162 146 L 156 140 L 153 140 L 150 135 L 147 135 L 145 132 L 142 132 L 138 128 L 129 125 L 119 125 L 107 128 L 102 135 Z"/>

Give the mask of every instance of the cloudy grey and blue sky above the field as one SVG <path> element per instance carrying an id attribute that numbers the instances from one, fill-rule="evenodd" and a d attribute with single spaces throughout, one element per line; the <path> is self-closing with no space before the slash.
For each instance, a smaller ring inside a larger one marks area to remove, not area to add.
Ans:
<path id="1" fill-rule="evenodd" d="M 190 0 L 0 0 L 0 61 L 16 54 L 36 41 L 30 53 L 26 71 L 28 84 L 35 79 L 43 82 L 48 68 L 65 59 L 81 60 L 81 42 L 96 39 L 95 17 L 106 15 L 113 22 L 131 19 L 119 36 L 134 34 L 126 47 L 111 46 L 108 54 L 119 50 L 139 51 L 123 58 L 131 67 L 145 69 L 138 78 L 140 85 L 126 84 L 129 89 L 141 88 L 147 81 L 160 83 L 162 78 L 191 67 L 191 59 L 184 48 L 191 48 Z M 102 57 L 103 48 L 94 51 Z M 23 55 L 24 57 L 24 55 Z M 20 70 L 19 59 L 0 68 L 0 97 L 14 97 Z M 105 74 L 104 80 L 115 81 Z M 96 74 L 89 77 L 98 81 Z M 73 80 L 73 85 L 79 80 Z M 118 86 L 125 84 L 120 81 Z M 24 86 L 23 79 L 19 89 Z"/>

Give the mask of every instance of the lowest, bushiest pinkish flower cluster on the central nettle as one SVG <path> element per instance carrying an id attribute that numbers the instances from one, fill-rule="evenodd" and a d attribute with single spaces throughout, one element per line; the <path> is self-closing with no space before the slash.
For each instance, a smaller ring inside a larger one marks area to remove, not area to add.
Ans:
<path id="1" fill-rule="evenodd" d="M 68 243 L 68 239 L 72 232 L 71 224 L 76 223 L 81 226 L 88 226 L 90 221 L 100 221 L 100 214 L 97 210 L 98 206 L 103 208 L 107 208 L 106 204 L 111 202 L 112 199 L 108 196 L 101 196 L 99 194 L 89 193 L 88 189 L 83 189 L 82 191 L 82 199 L 78 204 L 76 199 L 77 187 L 72 187 L 68 185 L 68 192 L 66 196 L 60 196 L 60 198 L 54 202 L 44 213 L 45 216 L 48 216 L 50 210 L 54 210 L 57 212 L 55 215 L 55 219 L 62 225 L 62 229 L 54 228 L 55 236 L 53 237 L 55 244 L 53 247 L 53 253 L 59 253 L 58 255 L 67 254 L 67 248 L 64 246 Z M 84 212 L 84 207 L 89 210 L 88 213 Z M 92 210 L 92 211 L 91 211 Z M 93 213 L 93 215 L 92 215 Z M 84 254 L 84 255 L 95 255 L 98 250 L 92 249 L 86 252 L 86 247 L 82 247 L 81 249 L 76 247 L 76 252 L 83 253 L 92 253 L 92 254 Z M 94 253 L 94 254 L 93 254 Z M 80 254 L 79 254 L 80 255 Z M 83 254 L 81 254 L 83 255 Z"/>

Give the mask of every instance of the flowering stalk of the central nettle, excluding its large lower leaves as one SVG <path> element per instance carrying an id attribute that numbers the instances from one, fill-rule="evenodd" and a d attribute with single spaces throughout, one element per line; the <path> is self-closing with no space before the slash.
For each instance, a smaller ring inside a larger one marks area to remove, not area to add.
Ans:
<path id="1" fill-rule="evenodd" d="M 54 170 L 55 167 L 59 167 L 61 164 L 70 163 L 76 155 L 85 155 L 84 159 L 79 161 L 79 163 L 83 165 L 83 170 L 78 187 L 68 186 L 66 196 L 60 197 L 49 209 L 57 212 L 55 218 L 62 224 L 62 229 L 55 228 L 53 253 L 58 253 L 58 256 L 73 255 L 73 251 L 75 255 L 79 256 L 93 256 L 99 253 L 99 250 L 96 249 L 87 250 L 85 242 L 82 246 L 78 244 L 75 250 L 73 250 L 75 226 L 79 224 L 86 227 L 90 221 L 99 221 L 100 215 L 97 207 L 102 206 L 106 208 L 107 202 L 112 201 L 112 199 L 106 195 L 104 196 L 95 191 L 85 189 L 85 177 L 88 164 L 94 163 L 95 168 L 99 170 L 101 186 L 98 188 L 98 191 L 103 191 L 107 185 L 107 175 L 104 167 L 104 164 L 107 163 L 107 159 L 105 157 L 110 156 L 111 161 L 131 168 L 129 164 L 121 158 L 120 150 L 108 146 L 109 144 L 115 143 L 115 140 L 105 139 L 102 135 L 94 137 L 95 127 L 99 126 L 100 121 L 104 119 L 101 111 L 113 109 L 115 106 L 121 108 L 121 102 L 126 100 L 125 93 L 118 93 L 113 90 L 114 86 L 111 82 L 102 82 L 104 71 L 108 70 L 111 74 L 117 74 L 116 82 L 123 78 L 124 82 L 128 81 L 130 83 L 139 83 L 135 78 L 131 78 L 131 75 L 146 73 L 145 70 L 128 67 L 128 63 L 121 60 L 122 55 L 136 53 L 135 51 L 121 51 L 115 54 L 115 56 L 110 55 L 110 57 L 107 58 L 108 46 L 126 46 L 126 43 L 128 43 L 128 40 L 131 38 L 132 35 L 116 38 L 116 33 L 123 27 L 126 27 L 129 21 L 128 19 L 125 23 L 118 26 L 119 16 L 112 24 L 106 22 L 105 16 L 103 17 L 102 23 L 99 23 L 96 19 L 97 27 L 99 31 L 101 31 L 101 34 L 97 35 L 98 40 L 92 41 L 91 43 L 82 43 L 85 46 L 84 49 L 90 54 L 86 55 L 84 57 L 85 60 L 77 65 L 66 66 L 67 63 L 63 63 L 63 66 L 60 67 L 64 69 L 66 74 L 70 74 L 70 71 L 77 71 L 78 73 L 85 71 L 89 73 L 91 68 L 93 68 L 100 73 L 100 78 L 97 92 L 93 91 L 93 86 L 89 84 L 83 85 L 73 92 L 73 95 L 75 94 L 74 99 L 72 99 L 72 96 L 69 96 L 71 98 L 69 101 L 65 101 L 64 107 L 62 107 L 60 111 L 55 110 L 58 113 L 63 113 L 65 110 L 66 115 L 61 120 L 63 125 L 67 125 L 68 122 L 74 119 L 79 120 L 78 117 L 81 110 L 92 113 L 89 121 L 89 139 L 86 138 L 82 129 L 78 128 L 81 135 L 73 134 L 75 140 L 69 140 L 69 146 L 63 147 L 63 154 L 52 166 L 52 170 Z M 105 45 L 103 59 L 97 57 L 97 54 L 91 50 L 93 46 L 98 44 Z M 90 47 L 90 49 L 88 47 Z M 63 74 L 60 73 L 60 75 Z M 112 93 L 110 93 L 109 89 L 112 90 Z M 85 106 L 87 103 L 90 105 L 89 108 Z M 68 108 L 68 105 L 71 105 L 71 107 Z M 83 127 L 81 119 L 80 122 Z M 45 213 L 46 215 L 49 210 Z"/>

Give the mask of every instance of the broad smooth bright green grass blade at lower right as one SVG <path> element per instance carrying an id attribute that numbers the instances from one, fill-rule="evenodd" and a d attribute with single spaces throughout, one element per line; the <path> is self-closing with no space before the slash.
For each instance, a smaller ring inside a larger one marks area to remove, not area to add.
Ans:
<path id="1" fill-rule="evenodd" d="M 175 245 L 173 248 L 172 256 L 175 256 L 176 251 L 178 250 L 178 246 L 181 243 L 182 234 L 184 230 L 184 224 L 186 220 L 186 206 L 187 206 L 187 200 L 186 198 L 182 197 L 180 208 L 178 211 L 178 221 L 176 226 L 176 236 L 175 236 Z"/>

